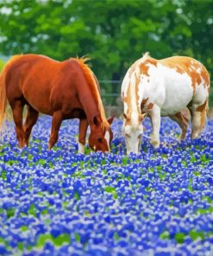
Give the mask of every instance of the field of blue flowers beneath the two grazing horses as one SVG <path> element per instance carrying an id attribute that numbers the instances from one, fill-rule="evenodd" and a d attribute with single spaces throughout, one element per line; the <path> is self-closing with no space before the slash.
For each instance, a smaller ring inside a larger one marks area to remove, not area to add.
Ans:
<path id="1" fill-rule="evenodd" d="M 122 120 L 111 152 L 78 154 L 78 120 L 51 118 L 19 150 L 13 123 L 0 142 L 0 255 L 213 255 L 213 120 L 200 139 L 161 119 L 160 149 L 146 131 L 125 155 Z"/>

